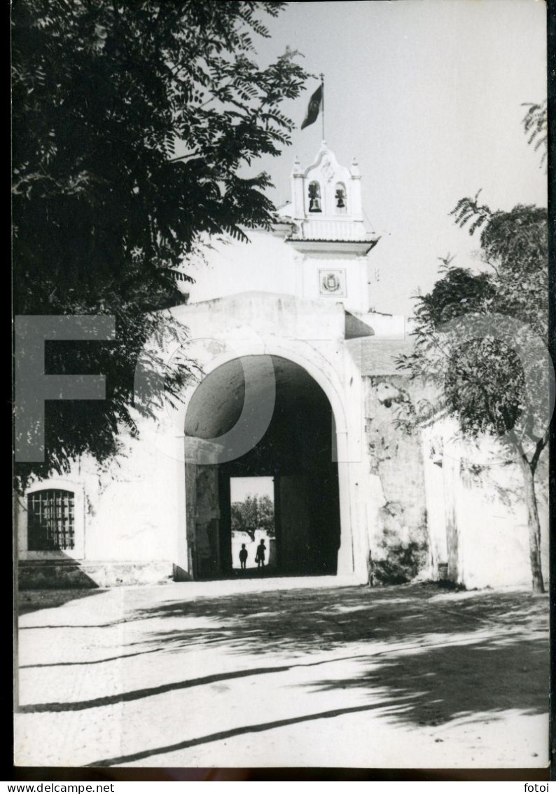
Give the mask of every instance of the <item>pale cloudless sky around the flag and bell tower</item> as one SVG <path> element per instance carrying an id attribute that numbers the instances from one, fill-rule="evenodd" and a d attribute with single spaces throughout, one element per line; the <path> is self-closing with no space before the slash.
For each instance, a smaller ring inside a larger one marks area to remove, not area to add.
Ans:
<path id="1" fill-rule="evenodd" d="M 448 215 L 459 198 L 482 188 L 492 208 L 546 206 L 546 174 L 521 125 L 522 103 L 546 98 L 543 0 L 299 2 L 267 26 L 259 60 L 288 45 L 323 71 L 326 141 L 340 163 L 359 160 L 366 215 L 382 235 L 370 253 L 377 310 L 411 314 L 439 256 L 476 264 L 477 238 Z M 285 104 L 298 124 L 317 86 Z M 309 164 L 321 139 L 319 119 L 294 131 L 282 157 L 258 161 L 274 202 L 290 196 L 294 156 Z"/>

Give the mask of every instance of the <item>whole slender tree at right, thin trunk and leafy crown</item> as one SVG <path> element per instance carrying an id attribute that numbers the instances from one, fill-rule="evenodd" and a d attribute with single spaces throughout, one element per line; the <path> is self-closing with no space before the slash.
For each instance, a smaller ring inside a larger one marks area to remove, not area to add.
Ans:
<path id="1" fill-rule="evenodd" d="M 447 257 L 431 292 L 416 298 L 415 347 L 398 366 L 439 391 L 409 422 L 447 411 L 468 437 L 497 437 L 510 449 L 523 471 L 533 588 L 542 592 L 535 472 L 550 421 L 547 212 L 523 205 L 493 212 L 477 194 L 451 214 L 470 233 L 481 229 L 488 270 L 458 268 Z"/>

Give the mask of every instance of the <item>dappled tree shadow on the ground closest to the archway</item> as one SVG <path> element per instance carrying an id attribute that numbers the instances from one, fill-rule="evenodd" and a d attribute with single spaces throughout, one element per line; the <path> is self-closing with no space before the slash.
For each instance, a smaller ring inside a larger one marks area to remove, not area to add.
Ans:
<path id="1" fill-rule="evenodd" d="M 191 628 L 151 634 L 166 649 L 220 642 L 231 653 L 324 653 L 351 642 L 411 642 L 424 634 L 458 634 L 508 626 L 533 642 L 544 638 L 548 607 L 523 592 L 450 594 L 434 585 L 346 587 L 242 593 L 171 601 L 133 619 L 195 619 Z M 206 619 L 206 626 L 199 626 Z M 177 621 L 179 623 L 179 620 Z"/>

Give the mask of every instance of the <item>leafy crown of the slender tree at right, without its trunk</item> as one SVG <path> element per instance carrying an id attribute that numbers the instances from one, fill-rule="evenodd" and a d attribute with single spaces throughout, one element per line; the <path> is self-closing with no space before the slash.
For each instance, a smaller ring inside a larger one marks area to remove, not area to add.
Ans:
<path id="1" fill-rule="evenodd" d="M 465 202 L 469 212 L 476 207 L 474 199 L 458 202 L 453 214 L 460 225 Z M 476 208 L 476 216 L 481 211 Z M 467 222 L 474 223 L 472 214 Z M 490 272 L 456 268 L 447 258 L 432 291 L 416 298 L 415 349 L 401 357 L 399 366 L 413 377 L 443 384 L 443 407 L 458 416 L 466 434 L 514 431 L 516 443 L 523 434 L 533 435 L 534 427 L 520 428 L 523 404 L 538 401 L 540 410 L 546 395 L 531 388 L 525 393 L 520 358 L 512 345 L 497 337 L 497 328 L 498 318 L 505 316 L 527 324 L 546 340 L 547 246 L 546 210 L 521 205 L 509 212 L 489 210 L 481 231 L 481 254 Z M 466 321 L 474 318 L 493 318 L 492 333 L 461 344 Z M 450 334 L 439 336 L 447 322 Z"/>

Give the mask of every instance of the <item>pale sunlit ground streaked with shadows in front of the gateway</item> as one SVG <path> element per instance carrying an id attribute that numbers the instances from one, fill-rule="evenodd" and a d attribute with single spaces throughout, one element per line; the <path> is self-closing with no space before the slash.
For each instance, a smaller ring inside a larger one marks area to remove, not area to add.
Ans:
<path id="1" fill-rule="evenodd" d="M 17 765 L 546 766 L 548 599 L 331 584 L 22 593 Z"/>

